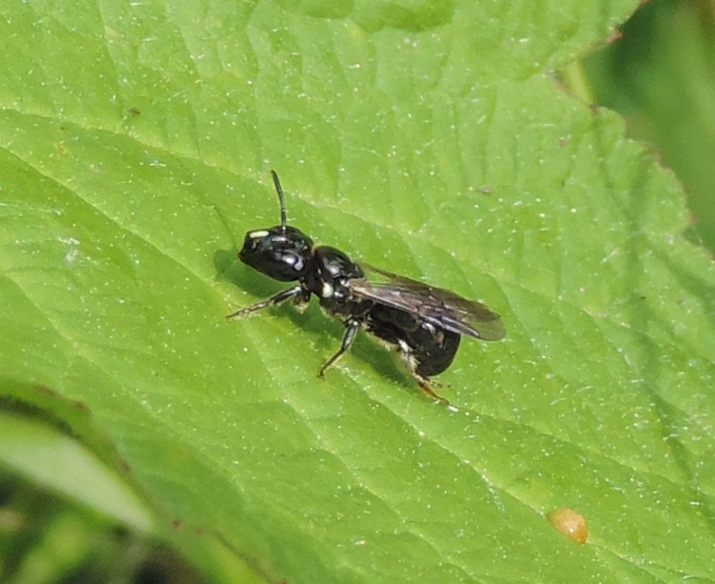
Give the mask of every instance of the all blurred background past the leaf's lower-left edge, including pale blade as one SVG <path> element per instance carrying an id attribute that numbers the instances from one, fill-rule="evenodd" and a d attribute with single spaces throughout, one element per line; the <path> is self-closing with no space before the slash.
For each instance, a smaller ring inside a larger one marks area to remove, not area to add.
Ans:
<path id="1" fill-rule="evenodd" d="M 179 520 L 168 530 L 154 523 L 111 463 L 79 440 L 82 408 L 58 425 L 26 406 L 0 399 L 1 583 L 265 581 L 208 533 L 187 533 Z M 210 568 L 195 567 L 186 547 L 179 549 L 182 538 L 194 550 L 210 548 L 200 552 Z"/>

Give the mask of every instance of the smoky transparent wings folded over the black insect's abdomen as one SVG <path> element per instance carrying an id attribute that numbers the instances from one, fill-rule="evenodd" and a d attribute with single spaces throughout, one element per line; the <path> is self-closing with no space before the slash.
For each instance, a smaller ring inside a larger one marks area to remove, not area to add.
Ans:
<path id="1" fill-rule="evenodd" d="M 501 318 L 479 302 L 472 302 L 442 288 L 435 288 L 370 264 L 361 264 L 385 277 L 385 282 L 353 280 L 355 295 L 420 316 L 425 322 L 460 335 L 496 341 L 506 335 Z"/>

